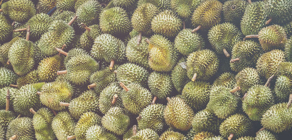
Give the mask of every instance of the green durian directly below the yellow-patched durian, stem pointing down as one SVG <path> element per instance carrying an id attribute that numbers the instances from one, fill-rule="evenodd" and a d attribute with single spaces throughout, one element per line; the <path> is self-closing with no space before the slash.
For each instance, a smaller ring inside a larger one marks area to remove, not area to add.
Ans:
<path id="1" fill-rule="evenodd" d="M 159 99 L 165 98 L 172 91 L 170 76 L 166 74 L 160 74 L 158 72 L 152 72 L 149 75 L 148 86 L 150 92 Z"/>

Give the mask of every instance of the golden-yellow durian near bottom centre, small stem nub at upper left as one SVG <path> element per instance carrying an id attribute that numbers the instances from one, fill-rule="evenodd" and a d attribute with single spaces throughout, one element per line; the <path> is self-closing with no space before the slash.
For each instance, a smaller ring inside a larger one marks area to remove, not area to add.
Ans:
<path id="1" fill-rule="evenodd" d="M 166 98 L 167 106 L 164 109 L 165 122 L 176 129 L 187 131 L 192 126 L 194 111 L 181 97 Z"/>

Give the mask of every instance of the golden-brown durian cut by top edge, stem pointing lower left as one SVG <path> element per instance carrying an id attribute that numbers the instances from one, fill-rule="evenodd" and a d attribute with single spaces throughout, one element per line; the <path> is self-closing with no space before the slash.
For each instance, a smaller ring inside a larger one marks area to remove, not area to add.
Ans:
<path id="1" fill-rule="evenodd" d="M 196 27 L 192 32 L 198 30 L 208 31 L 212 26 L 221 22 L 223 4 L 219 0 L 206 0 L 194 11 L 191 18 L 192 25 Z"/>

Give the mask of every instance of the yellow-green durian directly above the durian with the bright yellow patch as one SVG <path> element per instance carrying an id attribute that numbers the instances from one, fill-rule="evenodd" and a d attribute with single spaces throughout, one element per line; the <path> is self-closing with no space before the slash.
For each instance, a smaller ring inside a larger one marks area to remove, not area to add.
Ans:
<path id="1" fill-rule="evenodd" d="M 172 11 L 165 10 L 152 19 L 151 29 L 156 34 L 172 38 L 183 29 L 183 22 Z"/>

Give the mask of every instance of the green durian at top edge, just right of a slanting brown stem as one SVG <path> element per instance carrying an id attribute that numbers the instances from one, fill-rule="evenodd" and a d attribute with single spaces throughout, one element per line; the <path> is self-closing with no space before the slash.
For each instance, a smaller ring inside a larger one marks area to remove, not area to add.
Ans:
<path id="1" fill-rule="evenodd" d="M 98 16 L 102 11 L 102 6 L 96 0 L 87 0 L 76 10 L 76 22 L 84 23 L 87 26 L 98 23 Z"/>

